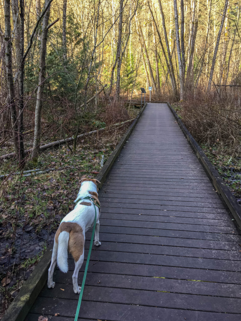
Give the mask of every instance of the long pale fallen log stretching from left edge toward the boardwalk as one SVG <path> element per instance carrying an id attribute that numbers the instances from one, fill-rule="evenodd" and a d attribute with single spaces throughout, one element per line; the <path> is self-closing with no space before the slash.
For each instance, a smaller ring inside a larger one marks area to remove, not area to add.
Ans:
<path id="1" fill-rule="evenodd" d="M 123 124 L 125 123 L 128 123 L 130 121 L 132 121 L 133 119 L 129 119 L 129 120 L 126 120 L 124 122 L 121 122 L 121 123 L 117 123 L 117 124 L 112 124 L 110 127 L 115 127 L 115 126 L 122 126 Z M 94 134 L 94 133 L 97 133 L 97 132 L 102 132 L 103 130 L 105 130 L 106 127 L 104 128 L 100 128 L 100 129 L 96 129 L 96 130 L 92 130 L 91 132 L 88 132 L 88 133 L 84 133 L 84 134 L 80 134 L 77 136 L 77 139 L 78 138 L 81 138 L 81 137 L 84 137 L 85 135 L 91 135 L 91 134 Z M 66 138 L 66 139 L 60 139 L 58 141 L 55 141 L 55 142 L 52 142 L 52 143 L 48 143 L 48 144 L 45 144 L 45 145 L 42 145 L 40 146 L 39 148 L 39 151 L 44 151 L 45 149 L 48 149 L 50 147 L 54 147 L 54 146 L 58 146 L 58 145 L 63 145 L 63 144 L 66 144 L 68 142 L 72 142 L 74 140 L 73 137 L 69 137 L 69 138 Z M 30 154 L 31 152 L 33 151 L 32 148 L 30 149 L 27 149 L 24 151 L 25 155 L 28 155 Z M 7 158 L 12 158 L 15 156 L 15 152 L 13 153 L 9 153 L 9 154 L 5 154 L 5 155 L 2 155 L 0 156 L 0 160 L 4 160 L 4 159 L 7 159 Z"/>

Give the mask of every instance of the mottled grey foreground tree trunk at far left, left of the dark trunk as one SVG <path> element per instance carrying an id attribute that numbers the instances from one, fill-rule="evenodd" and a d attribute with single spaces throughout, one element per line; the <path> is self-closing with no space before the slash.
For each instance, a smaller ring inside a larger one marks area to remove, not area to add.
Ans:
<path id="1" fill-rule="evenodd" d="M 13 131 L 13 142 L 16 155 L 19 154 L 18 148 L 18 123 L 16 113 L 15 92 L 13 85 L 13 69 L 12 69 L 12 44 L 11 44 L 11 20 L 10 20 L 10 0 L 4 0 L 4 21 L 5 21 L 5 63 L 8 86 L 8 106 L 11 112 L 11 122 Z"/>

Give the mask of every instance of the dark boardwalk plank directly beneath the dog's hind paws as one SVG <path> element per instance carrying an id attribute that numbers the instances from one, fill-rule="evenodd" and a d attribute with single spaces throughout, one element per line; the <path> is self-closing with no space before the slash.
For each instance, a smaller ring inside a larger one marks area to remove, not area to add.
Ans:
<path id="1" fill-rule="evenodd" d="M 78 299 L 78 296 L 76 296 L 73 291 L 72 285 L 66 284 L 64 286 L 65 291 L 60 290 L 61 286 L 61 284 L 57 283 L 55 288 L 52 290 L 45 288 L 40 295 L 45 298 L 51 298 L 53 296 L 57 299 Z M 241 313 L 239 299 L 123 288 L 115 288 L 115 291 L 113 291 L 112 287 L 85 287 L 85 301 L 101 302 L 103 300 L 111 303 L 139 304 L 158 308 L 188 309 L 210 312 L 222 312 L 225 310 L 227 313 Z"/>

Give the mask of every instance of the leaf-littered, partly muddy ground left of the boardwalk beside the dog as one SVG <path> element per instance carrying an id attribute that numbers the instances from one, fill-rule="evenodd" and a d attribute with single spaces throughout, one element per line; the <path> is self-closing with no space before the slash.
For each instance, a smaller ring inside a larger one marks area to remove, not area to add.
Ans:
<path id="1" fill-rule="evenodd" d="M 53 241 L 61 219 L 74 208 L 80 179 L 98 174 L 101 161 L 108 159 L 128 126 L 105 130 L 98 139 L 85 137 L 75 154 L 69 145 L 40 153 L 38 168 L 49 172 L 0 181 L 2 315 Z M 9 168 L 11 163 L 4 165 Z M 31 169 L 30 161 L 25 169 Z"/>

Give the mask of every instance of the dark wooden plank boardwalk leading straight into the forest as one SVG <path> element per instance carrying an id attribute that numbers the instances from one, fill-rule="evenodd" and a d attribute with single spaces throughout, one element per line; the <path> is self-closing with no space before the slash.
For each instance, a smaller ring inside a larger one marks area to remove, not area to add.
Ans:
<path id="1" fill-rule="evenodd" d="M 148 103 L 99 196 L 79 320 L 241 320 L 239 230 L 166 104 Z M 73 267 L 26 321 L 74 319 Z"/>

